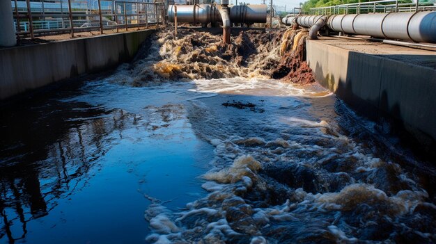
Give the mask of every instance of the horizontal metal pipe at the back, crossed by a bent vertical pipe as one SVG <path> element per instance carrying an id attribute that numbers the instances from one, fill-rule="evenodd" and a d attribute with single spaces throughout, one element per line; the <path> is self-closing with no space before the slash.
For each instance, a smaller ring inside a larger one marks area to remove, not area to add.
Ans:
<path id="1" fill-rule="evenodd" d="M 228 6 L 232 23 L 266 23 L 267 6 L 249 4 L 247 6 Z M 169 22 L 174 22 L 174 5 L 168 7 Z M 222 23 L 218 6 L 210 4 L 178 5 L 177 21 L 182 23 L 208 24 Z"/>

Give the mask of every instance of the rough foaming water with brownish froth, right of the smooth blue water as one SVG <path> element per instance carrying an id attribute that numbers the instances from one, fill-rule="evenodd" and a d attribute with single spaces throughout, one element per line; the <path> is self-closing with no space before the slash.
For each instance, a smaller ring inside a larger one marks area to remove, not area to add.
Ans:
<path id="1" fill-rule="evenodd" d="M 150 243 L 435 241 L 434 196 L 420 184 L 434 169 L 410 171 L 413 158 L 352 136 L 372 124 L 352 124 L 363 119 L 334 95 L 268 79 L 192 84 L 204 95 L 187 100 L 189 122 L 215 147 L 209 194 L 182 211 L 150 204 Z"/>

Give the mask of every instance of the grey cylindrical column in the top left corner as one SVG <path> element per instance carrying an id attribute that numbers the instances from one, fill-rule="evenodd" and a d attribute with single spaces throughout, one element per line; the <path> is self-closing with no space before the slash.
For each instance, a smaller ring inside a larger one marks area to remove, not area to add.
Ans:
<path id="1" fill-rule="evenodd" d="M 15 37 L 14 19 L 10 1 L 0 1 L 0 47 L 12 47 L 17 44 Z"/>

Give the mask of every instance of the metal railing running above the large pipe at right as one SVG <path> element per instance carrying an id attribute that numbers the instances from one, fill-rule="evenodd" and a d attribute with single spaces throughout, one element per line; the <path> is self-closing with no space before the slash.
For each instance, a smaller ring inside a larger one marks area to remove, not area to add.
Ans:
<path id="1" fill-rule="evenodd" d="M 398 0 L 368 1 L 365 3 L 348 3 L 336 6 L 311 8 L 309 15 L 340 15 L 349 13 L 392 13 L 436 10 L 435 3 L 401 3 Z"/>

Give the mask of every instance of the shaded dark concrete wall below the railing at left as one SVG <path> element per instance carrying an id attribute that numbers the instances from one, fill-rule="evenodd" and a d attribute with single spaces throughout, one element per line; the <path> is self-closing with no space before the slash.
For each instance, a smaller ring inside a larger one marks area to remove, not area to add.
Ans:
<path id="1" fill-rule="evenodd" d="M 0 99 L 132 60 L 153 30 L 0 49 Z"/>

